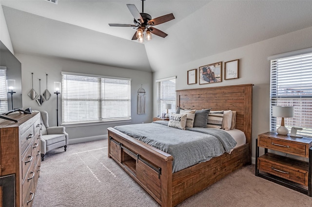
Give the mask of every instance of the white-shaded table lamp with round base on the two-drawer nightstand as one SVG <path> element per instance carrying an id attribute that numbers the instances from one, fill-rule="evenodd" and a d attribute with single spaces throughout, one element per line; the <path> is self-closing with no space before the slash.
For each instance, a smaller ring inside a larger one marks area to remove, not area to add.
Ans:
<path id="1" fill-rule="evenodd" d="M 294 116 L 293 106 L 272 106 L 272 116 L 281 117 L 281 125 L 276 132 L 279 135 L 288 135 L 288 129 L 285 127 L 284 118 L 292 118 Z"/>

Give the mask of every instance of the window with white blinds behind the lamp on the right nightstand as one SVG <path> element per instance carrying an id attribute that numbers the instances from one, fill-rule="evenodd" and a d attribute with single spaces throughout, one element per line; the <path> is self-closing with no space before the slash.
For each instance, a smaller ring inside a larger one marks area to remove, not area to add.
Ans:
<path id="1" fill-rule="evenodd" d="M 270 130 L 276 131 L 281 118 L 272 117 L 272 106 L 294 106 L 294 117 L 285 126 L 299 127 L 297 133 L 312 137 L 312 49 L 269 57 L 271 60 Z"/>

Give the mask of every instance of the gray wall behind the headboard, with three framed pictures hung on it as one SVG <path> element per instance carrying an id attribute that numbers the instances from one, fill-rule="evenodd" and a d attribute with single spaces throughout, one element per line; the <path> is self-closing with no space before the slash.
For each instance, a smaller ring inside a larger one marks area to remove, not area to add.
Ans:
<path id="1" fill-rule="evenodd" d="M 273 54 L 291 52 L 312 47 L 312 27 L 277 36 L 265 41 L 257 42 L 235 50 L 222 52 L 203 59 L 194 60 L 184 65 L 168 65 L 153 74 L 154 105 L 156 106 L 156 80 L 177 76 L 176 90 L 198 88 L 231 86 L 239 84 L 254 84 L 253 87 L 253 151 L 255 157 L 255 139 L 258 134 L 270 130 L 270 61 L 267 58 Z M 224 62 L 239 59 L 239 78 L 224 80 Z M 213 84 L 198 84 L 198 67 L 222 61 L 222 82 Z M 187 70 L 197 68 L 197 84 L 187 85 Z M 156 116 L 156 107 L 153 115 Z M 254 160 L 253 160 L 254 161 Z"/>

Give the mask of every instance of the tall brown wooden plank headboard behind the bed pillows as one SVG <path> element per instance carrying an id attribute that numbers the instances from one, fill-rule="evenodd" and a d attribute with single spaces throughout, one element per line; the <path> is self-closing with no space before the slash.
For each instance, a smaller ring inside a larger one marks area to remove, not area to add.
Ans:
<path id="1" fill-rule="evenodd" d="M 176 91 L 181 108 L 236 111 L 236 129 L 243 131 L 252 149 L 253 84 L 205 87 Z"/>

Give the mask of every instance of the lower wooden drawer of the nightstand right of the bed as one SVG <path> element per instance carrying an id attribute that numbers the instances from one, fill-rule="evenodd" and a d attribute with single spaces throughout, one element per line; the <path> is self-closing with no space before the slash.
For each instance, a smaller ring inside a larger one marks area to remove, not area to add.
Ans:
<path id="1" fill-rule="evenodd" d="M 309 163 L 267 153 L 258 157 L 260 171 L 308 186 Z"/>

